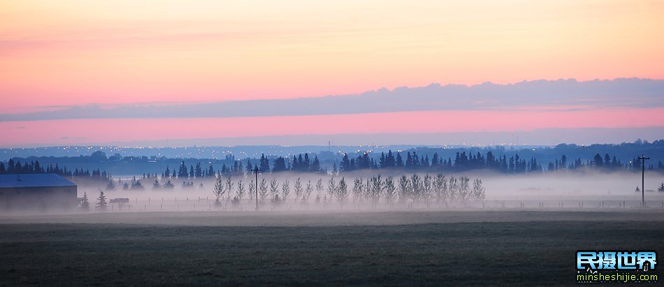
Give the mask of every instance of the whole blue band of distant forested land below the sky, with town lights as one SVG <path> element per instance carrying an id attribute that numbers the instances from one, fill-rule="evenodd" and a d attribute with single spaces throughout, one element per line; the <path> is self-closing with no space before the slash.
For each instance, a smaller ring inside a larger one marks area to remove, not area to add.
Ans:
<path id="1" fill-rule="evenodd" d="M 319 155 L 327 161 L 322 163 Z M 505 147 L 442 148 L 417 147 L 387 152 L 358 151 L 339 153 L 329 159 L 329 152 L 266 156 L 258 159 L 169 159 L 165 156 L 107 156 L 96 151 L 89 156 L 29 156 L 13 157 L 0 162 L 0 173 L 54 172 L 71 177 L 87 177 L 110 181 L 111 171 L 122 175 L 143 175 L 162 178 L 205 178 L 233 176 L 261 172 L 314 172 L 338 174 L 355 170 L 414 170 L 423 172 L 464 172 L 493 170 L 506 174 L 542 173 L 556 170 L 641 170 L 644 154 L 650 159 L 647 170 L 664 172 L 664 140 L 635 142 L 620 145 L 557 145 L 528 149 Z M 70 168 L 67 168 L 70 165 Z M 159 166 L 158 166 L 159 165 Z M 127 172 L 129 170 L 129 172 Z"/>

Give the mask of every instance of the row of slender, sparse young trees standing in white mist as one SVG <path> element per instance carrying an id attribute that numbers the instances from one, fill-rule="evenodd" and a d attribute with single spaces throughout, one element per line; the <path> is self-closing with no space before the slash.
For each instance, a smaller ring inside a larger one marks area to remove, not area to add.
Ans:
<path id="1" fill-rule="evenodd" d="M 319 177 L 317 181 L 304 182 L 300 177 L 284 179 L 277 182 L 272 178 L 269 182 L 262 178 L 258 183 L 250 179 L 233 180 L 232 177 L 217 177 L 212 193 L 215 206 L 241 205 L 245 198 L 255 202 L 257 191 L 260 205 L 270 203 L 273 206 L 292 203 L 338 203 L 340 207 L 347 203 L 370 203 L 375 207 L 379 203 L 449 203 L 467 202 L 468 200 L 484 200 L 485 189 L 482 179 L 469 177 L 446 177 L 442 173 L 424 176 L 414 173 L 400 177 L 382 177 L 375 175 L 363 179 L 355 177 L 347 181 L 346 177 L 331 176 L 326 180 Z M 352 180 L 352 182 L 350 182 Z M 315 197 L 312 193 L 316 191 Z"/>

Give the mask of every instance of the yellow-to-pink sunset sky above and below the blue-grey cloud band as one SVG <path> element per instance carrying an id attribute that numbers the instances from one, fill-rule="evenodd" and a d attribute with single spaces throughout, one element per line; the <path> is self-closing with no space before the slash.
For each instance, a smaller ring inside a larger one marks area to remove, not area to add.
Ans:
<path id="1" fill-rule="evenodd" d="M 357 94 L 432 82 L 664 78 L 662 1 L 25 0 L 2 1 L 0 11 L 0 114 Z M 664 123 L 654 110 L 640 111 L 649 122 L 631 122 L 635 111 L 628 109 L 613 111 L 620 120 L 609 110 L 555 116 L 538 109 L 0 122 L 0 146 L 411 132 L 417 119 L 430 121 L 418 128 L 432 132 Z M 261 129 L 264 122 L 273 127 Z M 174 125 L 187 130 L 164 128 Z"/>

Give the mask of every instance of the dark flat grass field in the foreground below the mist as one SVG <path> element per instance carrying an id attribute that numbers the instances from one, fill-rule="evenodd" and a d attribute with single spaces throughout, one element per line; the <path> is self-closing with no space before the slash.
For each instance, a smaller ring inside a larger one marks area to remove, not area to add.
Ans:
<path id="1" fill-rule="evenodd" d="M 0 284 L 572 285 L 577 249 L 663 238 L 656 211 L 6 216 Z"/>

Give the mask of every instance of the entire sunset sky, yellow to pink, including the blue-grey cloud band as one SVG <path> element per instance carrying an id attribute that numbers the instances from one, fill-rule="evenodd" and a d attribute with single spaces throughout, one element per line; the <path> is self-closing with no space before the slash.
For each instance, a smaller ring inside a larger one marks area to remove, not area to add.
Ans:
<path id="1" fill-rule="evenodd" d="M 646 0 L 0 0 L 0 146 L 654 140 L 662 15 Z"/>

